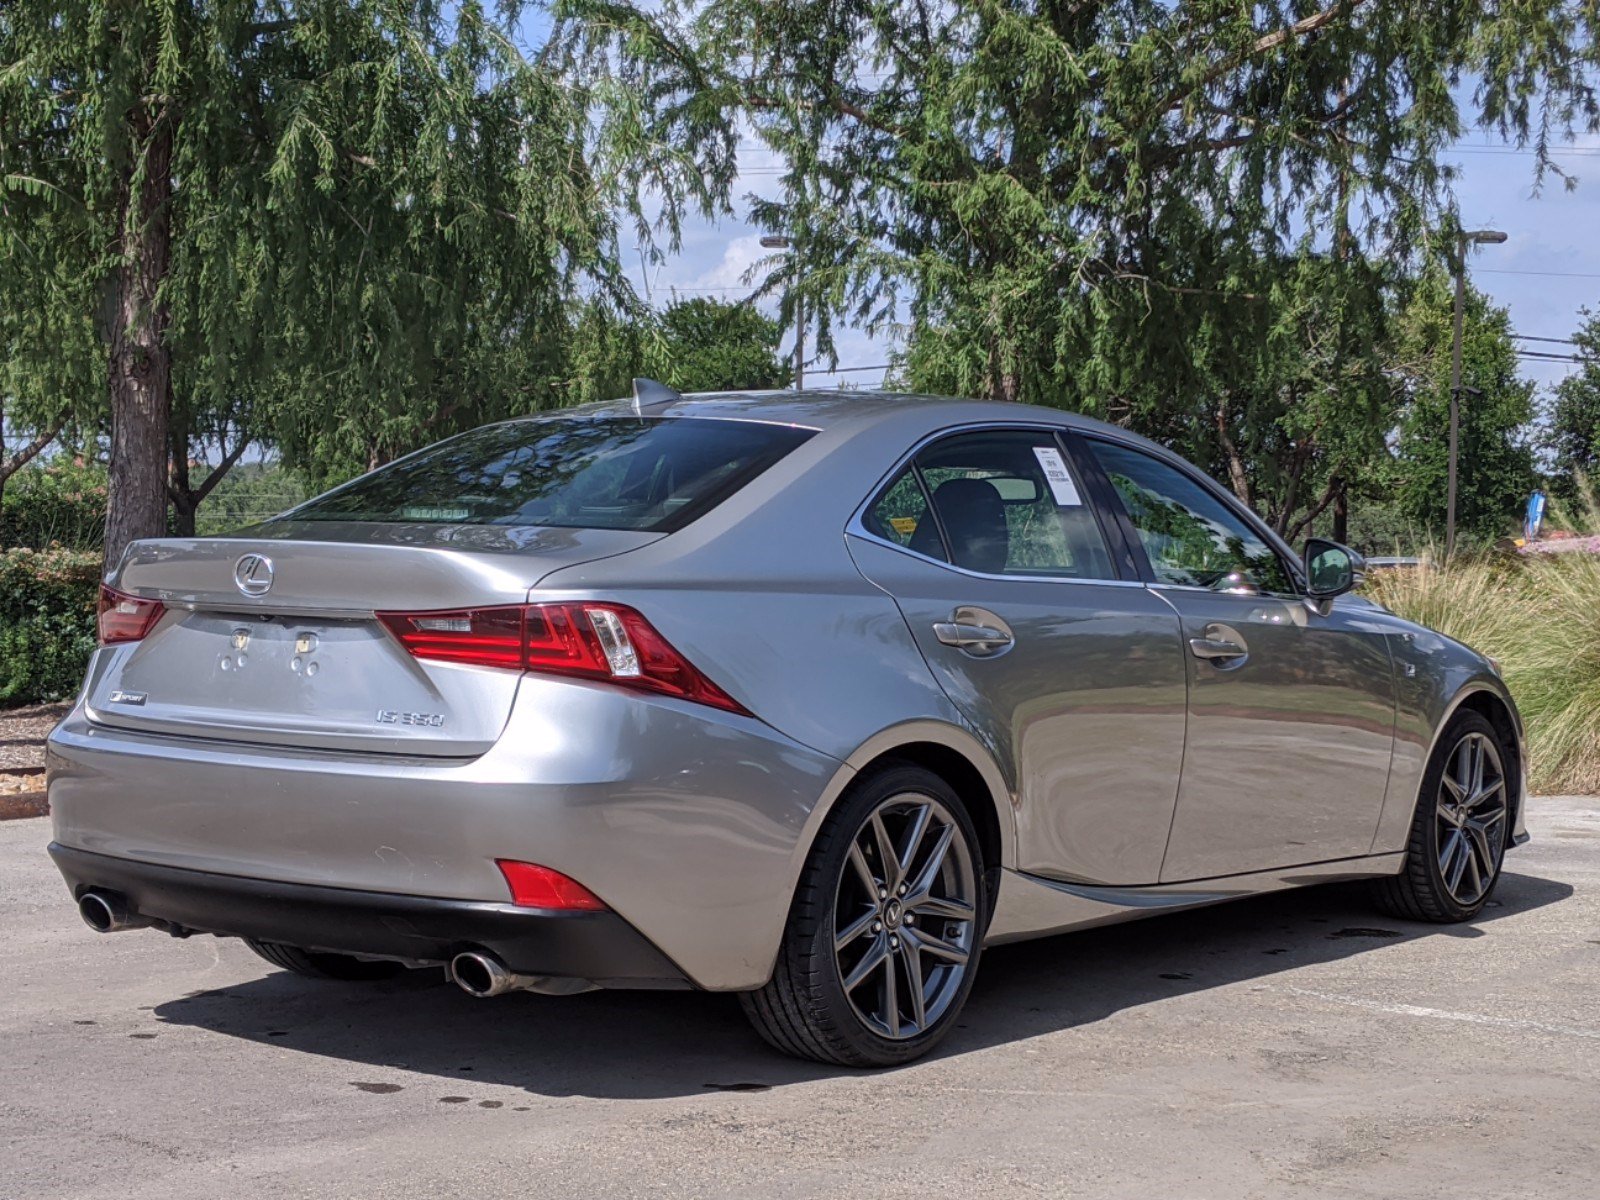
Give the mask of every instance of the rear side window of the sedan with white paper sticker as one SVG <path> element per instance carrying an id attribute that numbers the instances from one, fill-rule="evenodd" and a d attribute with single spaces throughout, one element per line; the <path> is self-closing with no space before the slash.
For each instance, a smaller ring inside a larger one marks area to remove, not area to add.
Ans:
<path id="1" fill-rule="evenodd" d="M 1099 522 L 1048 432 L 982 430 L 933 443 L 874 501 L 866 525 L 982 574 L 1117 578 Z"/>

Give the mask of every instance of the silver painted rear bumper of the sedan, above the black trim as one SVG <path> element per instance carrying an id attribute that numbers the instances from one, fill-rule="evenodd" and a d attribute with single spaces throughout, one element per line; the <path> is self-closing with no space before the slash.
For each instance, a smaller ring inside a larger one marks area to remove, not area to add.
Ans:
<path id="1" fill-rule="evenodd" d="M 62 846 L 469 912 L 510 899 L 496 859 L 538 862 L 707 990 L 766 981 L 808 821 L 850 774 L 749 717 L 531 675 L 477 758 L 144 734 L 78 706 L 48 763 Z"/>

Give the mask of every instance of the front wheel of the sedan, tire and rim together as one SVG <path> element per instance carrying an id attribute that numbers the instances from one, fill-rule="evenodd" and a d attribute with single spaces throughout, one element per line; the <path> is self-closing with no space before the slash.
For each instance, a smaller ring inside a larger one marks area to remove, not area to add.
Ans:
<path id="1" fill-rule="evenodd" d="M 1448 925 L 1483 910 L 1499 882 L 1510 835 L 1510 762 L 1499 733 L 1482 714 L 1451 718 L 1422 773 L 1405 869 L 1373 886 L 1384 912 Z M 1477 782 L 1474 771 L 1480 771 Z"/>

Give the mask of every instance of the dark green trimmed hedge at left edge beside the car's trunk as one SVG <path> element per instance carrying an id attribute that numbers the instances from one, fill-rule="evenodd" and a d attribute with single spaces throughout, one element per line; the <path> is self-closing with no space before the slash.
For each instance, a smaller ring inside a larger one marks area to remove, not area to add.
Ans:
<path id="1" fill-rule="evenodd" d="M 0 552 L 0 706 L 64 699 L 94 650 L 99 554 Z"/>

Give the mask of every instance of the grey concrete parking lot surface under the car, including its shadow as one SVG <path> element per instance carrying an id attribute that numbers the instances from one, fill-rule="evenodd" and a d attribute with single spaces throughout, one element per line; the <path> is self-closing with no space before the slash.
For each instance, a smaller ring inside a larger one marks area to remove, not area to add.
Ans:
<path id="1" fill-rule="evenodd" d="M 1472 926 L 1352 888 L 1000 947 L 930 1061 L 725 995 L 318 984 L 91 934 L 0 824 L 0 1197 L 1600 1195 L 1600 802 Z"/>

